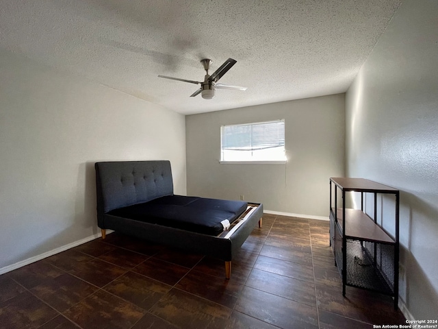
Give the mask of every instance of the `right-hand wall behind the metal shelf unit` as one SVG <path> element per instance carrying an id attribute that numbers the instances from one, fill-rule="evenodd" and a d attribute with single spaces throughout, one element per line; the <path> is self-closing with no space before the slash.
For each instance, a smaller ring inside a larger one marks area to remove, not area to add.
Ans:
<path id="1" fill-rule="evenodd" d="M 348 175 L 401 191 L 400 297 L 415 319 L 438 315 L 437 13 L 403 1 L 346 94 Z"/>

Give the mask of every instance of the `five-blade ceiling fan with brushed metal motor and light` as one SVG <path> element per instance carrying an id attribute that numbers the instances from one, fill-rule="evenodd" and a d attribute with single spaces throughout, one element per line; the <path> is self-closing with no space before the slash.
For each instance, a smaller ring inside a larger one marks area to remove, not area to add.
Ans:
<path id="1" fill-rule="evenodd" d="M 194 80 L 185 80 L 185 79 L 179 79 L 179 77 L 166 77 L 165 75 L 158 75 L 158 77 L 164 77 L 165 79 L 170 80 L 177 80 L 182 82 L 189 82 L 190 84 L 201 84 L 201 88 L 196 90 L 190 97 L 195 97 L 196 95 L 201 94 L 201 96 L 204 99 L 212 99 L 215 95 L 216 88 L 218 89 L 233 89 L 233 90 L 246 90 L 246 87 L 240 87 L 240 86 L 229 86 L 228 84 L 217 84 L 218 80 L 228 72 L 229 69 L 237 62 L 236 60 L 233 60 L 233 58 L 229 58 L 220 66 L 219 69 L 214 71 L 213 74 L 209 75 L 208 70 L 210 67 L 210 64 L 212 63 L 212 60 L 209 60 L 208 58 L 205 58 L 201 60 L 201 63 L 204 66 L 205 69 L 205 77 L 204 82 L 198 82 Z"/>

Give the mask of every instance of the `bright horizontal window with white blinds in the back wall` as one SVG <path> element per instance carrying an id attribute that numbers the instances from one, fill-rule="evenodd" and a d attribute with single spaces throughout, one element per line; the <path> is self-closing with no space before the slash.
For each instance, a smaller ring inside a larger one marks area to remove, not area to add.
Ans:
<path id="1" fill-rule="evenodd" d="M 220 160 L 282 161 L 285 157 L 285 120 L 222 125 Z"/>

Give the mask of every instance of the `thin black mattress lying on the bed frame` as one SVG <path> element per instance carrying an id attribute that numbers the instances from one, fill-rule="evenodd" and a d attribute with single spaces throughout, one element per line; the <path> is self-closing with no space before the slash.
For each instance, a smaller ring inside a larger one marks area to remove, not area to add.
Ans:
<path id="1" fill-rule="evenodd" d="M 239 218 L 247 206 L 243 201 L 166 195 L 107 213 L 201 234 L 218 235 Z"/>

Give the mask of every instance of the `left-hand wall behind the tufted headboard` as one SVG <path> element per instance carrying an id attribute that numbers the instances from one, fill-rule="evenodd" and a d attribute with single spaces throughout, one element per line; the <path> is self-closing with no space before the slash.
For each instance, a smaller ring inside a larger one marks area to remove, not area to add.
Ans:
<path id="1" fill-rule="evenodd" d="M 0 50 L 0 273 L 100 232 L 94 162 L 168 159 L 185 194 L 185 118 Z"/>

